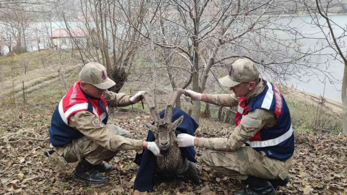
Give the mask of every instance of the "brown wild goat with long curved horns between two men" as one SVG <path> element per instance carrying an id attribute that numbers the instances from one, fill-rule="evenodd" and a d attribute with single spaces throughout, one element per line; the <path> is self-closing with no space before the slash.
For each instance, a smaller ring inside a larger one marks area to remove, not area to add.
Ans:
<path id="1" fill-rule="evenodd" d="M 155 136 L 155 143 L 160 149 L 163 157 L 156 157 L 156 174 L 164 177 L 172 177 L 175 175 L 187 174 L 195 185 L 199 185 L 199 177 L 196 171 L 195 164 L 186 157 L 183 157 L 181 150 L 177 144 L 175 135 L 176 127 L 183 121 L 183 117 L 179 117 L 176 121 L 172 120 L 172 111 L 177 97 L 184 94 L 183 89 L 174 89 L 174 94 L 167 103 L 164 118 L 161 119 L 156 110 L 151 98 L 146 92 L 142 97 L 150 107 L 150 111 L 154 120 L 154 125 L 144 124 L 145 128 L 151 130 Z"/>

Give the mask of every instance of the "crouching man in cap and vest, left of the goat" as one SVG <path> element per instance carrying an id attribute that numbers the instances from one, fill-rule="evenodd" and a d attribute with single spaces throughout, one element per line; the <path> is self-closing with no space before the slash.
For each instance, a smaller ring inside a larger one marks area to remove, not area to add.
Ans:
<path id="1" fill-rule="evenodd" d="M 88 184 L 104 184 L 107 179 L 99 172 L 110 172 L 110 161 L 120 150 L 151 150 L 160 156 L 154 142 L 130 139 L 131 135 L 116 125 L 107 124 L 108 107 L 127 106 L 142 99 L 141 91 L 135 96 L 113 93 L 106 89 L 115 85 L 107 77 L 103 65 L 86 64 L 79 78 L 56 107 L 49 128 L 50 150 L 45 155 L 60 169 L 68 163 L 79 162 L 73 176 Z"/>

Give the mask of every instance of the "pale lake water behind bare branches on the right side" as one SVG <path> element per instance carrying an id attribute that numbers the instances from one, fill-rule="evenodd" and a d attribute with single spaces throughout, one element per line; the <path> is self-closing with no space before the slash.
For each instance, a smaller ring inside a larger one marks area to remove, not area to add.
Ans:
<path id="1" fill-rule="evenodd" d="M 330 19 L 334 21 L 337 25 L 341 27 L 345 27 L 347 25 L 347 15 L 333 15 L 330 16 Z M 285 20 L 285 19 L 284 19 Z M 322 33 L 316 33 L 320 32 L 320 29 L 315 27 L 314 25 L 308 25 L 305 22 L 310 22 L 311 17 L 310 16 L 302 16 L 300 18 L 295 18 L 291 24 L 294 26 L 301 26 L 299 29 L 302 31 L 302 33 L 310 34 L 311 37 L 324 37 Z M 321 24 L 323 23 L 323 19 L 320 20 Z M 329 33 L 328 29 L 325 29 L 325 33 Z M 345 32 L 346 33 L 346 32 Z M 344 30 L 341 28 L 334 27 L 334 34 L 336 37 L 339 37 L 344 34 Z M 308 36 L 310 37 L 310 36 Z M 327 45 L 327 41 L 321 40 L 318 42 L 317 39 L 301 39 L 298 40 L 298 42 L 303 44 L 303 50 L 307 49 L 308 47 L 313 47 L 315 45 L 324 43 Z M 346 47 L 347 37 L 343 37 L 340 39 L 340 45 L 341 51 L 344 53 L 344 55 L 347 55 L 347 47 Z M 336 54 L 331 48 L 327 48 L 325 50 L 322 50 L 318 54 Z M 341 57 L 337 56 L 338 59 L 342 60 Z M 325 56 L 325 55 L 315 55 L 311 56 L 312 62 L 327 62 L 326 64 L 320 64 L 315 68 L 307 68 L 308 74 L 305 76 L 302 76 L 300 78 L 301 81 L 298 79 L 288 77 L 287 78 L 287 85 L 294 86 L 297 89 L 305 90 L 307 92 L 310 92 L 312 94 L 316 95 L 322 95 L 324 93 L 324 97 L 342 102 L 341 99 L 341 83 L 342 83 L 342 76 L 344 71 L 344 64 L 341 63 L 339 60 L 334 59 L 333 56 Z M 319 71 L 324 70 L 324 72 Z M 325 83 L 325 87 L 324 87 Z"/>

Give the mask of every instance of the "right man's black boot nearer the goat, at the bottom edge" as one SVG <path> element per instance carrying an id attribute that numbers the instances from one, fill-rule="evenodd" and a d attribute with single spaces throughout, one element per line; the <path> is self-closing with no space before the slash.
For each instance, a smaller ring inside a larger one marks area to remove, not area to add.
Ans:
<path id="1" fill-rule="evenodd" d="M 243 182 L 248 184 L 248 186 L 242 192 L 235 193 L 234 195 L 276 195 L 276 190 L 266 179 L 248 176 Z"/>

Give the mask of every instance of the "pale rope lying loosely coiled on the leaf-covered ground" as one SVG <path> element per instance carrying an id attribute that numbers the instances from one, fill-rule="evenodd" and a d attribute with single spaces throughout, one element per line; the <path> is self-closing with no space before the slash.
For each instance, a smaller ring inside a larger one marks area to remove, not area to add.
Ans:
<path id="1" fill-rule="evenodd" d="M 34 129 L 29 129 L 29 130 L 18 130 L 16 133 L 5 133 L 1 135 L 0 140 L 3 140 L 3 142 L 5 143 L 15 143 L 15 142 L 19 142 L 22 139 L 40 140 L 40 141 L 49 139 L 49 137 L 48 138 L 42 138 L 42 137 L 43 136 L 40 135 L 39 133 L 34 132 Z"/>

